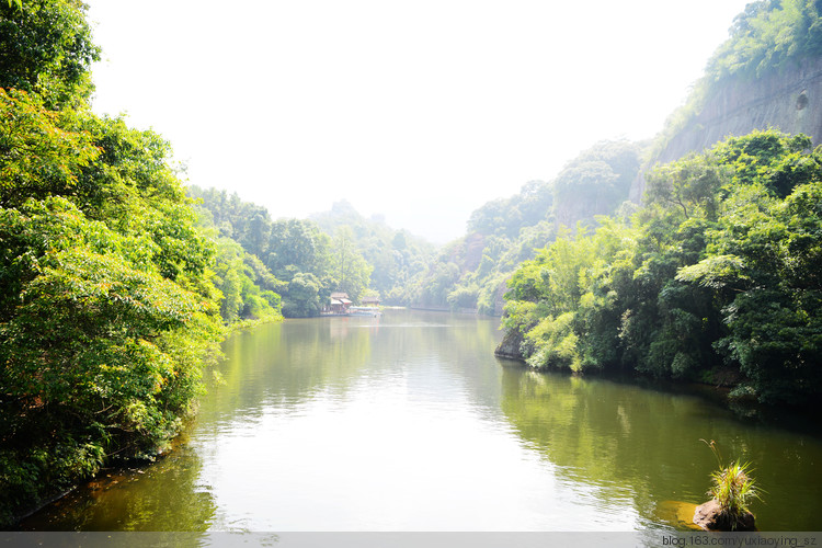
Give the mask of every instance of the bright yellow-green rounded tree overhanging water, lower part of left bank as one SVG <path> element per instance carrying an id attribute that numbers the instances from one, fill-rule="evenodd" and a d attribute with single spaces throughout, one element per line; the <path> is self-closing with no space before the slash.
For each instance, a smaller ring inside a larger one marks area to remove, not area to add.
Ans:
<path id="1" fill-rule="evenodd" d="M 2 491 L 28 484 L 3 501 L 16 505 L 105 458 L 162 446 L 220 331 L 213 301 L 147 259 L 150 238 L 91 221 L 66 198 L 0 209 L 0 437 L 10 470 L 26 471 Z M 24 466 L 33 453 L 42 458 Z"/>

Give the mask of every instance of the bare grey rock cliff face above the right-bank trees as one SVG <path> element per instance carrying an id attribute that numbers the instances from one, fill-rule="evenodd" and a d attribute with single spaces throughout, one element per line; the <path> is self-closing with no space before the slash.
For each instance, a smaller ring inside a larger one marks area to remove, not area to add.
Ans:
<path id="1" fill-rule="evenodd" d="M 735 79 L 716 91 L 701 111 L 653 158 L 633 182 L 630 199 L 644 192 L 643 172 L 701 152 L 728 136 L 773 127 L 822 142 L 822 58 L 804 59 L 756 80 Z"/>

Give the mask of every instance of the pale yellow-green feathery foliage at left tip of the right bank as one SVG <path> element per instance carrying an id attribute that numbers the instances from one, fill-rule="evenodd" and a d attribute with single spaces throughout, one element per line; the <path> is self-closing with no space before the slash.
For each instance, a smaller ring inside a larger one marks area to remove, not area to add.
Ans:
<path id="1" fill-rule="evenodd" d="M 566 232 L 523 263 L 509 282 L 505 329 L 524 335 L 523 354 L 537 368 L 580 370 L 614 365 L 620 315 L 614 287 L 626 259 L 633 256 L 636 235 L 601 218 L 592 236 Z"/>

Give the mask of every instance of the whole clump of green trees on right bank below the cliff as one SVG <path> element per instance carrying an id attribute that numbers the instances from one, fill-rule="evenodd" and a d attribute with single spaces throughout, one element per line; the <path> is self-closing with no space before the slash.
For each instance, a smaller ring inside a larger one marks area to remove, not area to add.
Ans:
<path id="1" fill-rule="evenodd" d="M 631 221 L 601 218 L 523 263 L 504 327 L 524 335 L 524 357 L 692 379 L 731 369 L 761 401 L 812 401 L 822 151 L 773 130 L 730 138 L 650 174 Z"/>

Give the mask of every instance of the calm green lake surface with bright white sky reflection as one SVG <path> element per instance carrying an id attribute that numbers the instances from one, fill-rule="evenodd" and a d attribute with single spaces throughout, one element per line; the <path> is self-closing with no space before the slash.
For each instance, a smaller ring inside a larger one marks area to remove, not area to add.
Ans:
<path id="1" fill-rule="evenodd" d="M 822 529 L 822 443 L 795 418 L 536 374 L 499 320 L 387 311 L 232 336 L 225 379 L 167 458 L 26 520 L 79 530 L 672 529 L 706 500 L 716 439 L 754 464 L 762 529 Z"/>

